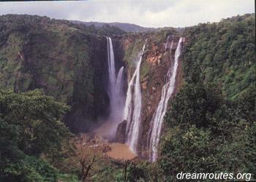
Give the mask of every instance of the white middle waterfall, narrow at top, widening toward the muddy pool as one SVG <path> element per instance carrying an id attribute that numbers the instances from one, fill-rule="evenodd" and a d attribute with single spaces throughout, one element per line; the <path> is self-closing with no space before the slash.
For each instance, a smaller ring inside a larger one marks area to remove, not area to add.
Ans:
<path id="1" fill-rule="evenodd" d="M 141 89 L 140 89 L 140 63 L 146 47 L 146 42 L 140 52 L 140 58 L 136 65 L 132 79 L 128 84 L 127 99 L 124 107 L 124 119 L 127 120 L 127 144 L 136 154 L 140 132 L 140 113 L 141 113 Z"/>

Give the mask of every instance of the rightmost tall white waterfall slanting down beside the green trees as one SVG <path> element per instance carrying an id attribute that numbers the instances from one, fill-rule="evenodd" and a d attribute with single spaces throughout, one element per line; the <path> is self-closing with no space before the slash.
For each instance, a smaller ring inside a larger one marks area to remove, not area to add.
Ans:
<path id="1" fill-rule="evenodd" d="M 181 55 L 181 48 L 184 38 L 181 37 L 178 41 L 178 47 L 175 52 L 175 59 L 172 66 L 170 66 L 167 72 L 167 83 L 162 87 L 161 100 L 158 103 L 157 110 L 151 119 L 151 135 L 149 141 L 149 160 L 154 162 L 157 159 L 157 148 L 159 145 L 159 138 L 162 130 L 162 122 L 164 120 L 165 112 L 167 110 L 167 103 L 170 96 L 173 94 L 173 90 L 176 82 L 176 73 L 178 68 L 178 58 Z M 173 45 L 173 44 L 172 44 Z"/>

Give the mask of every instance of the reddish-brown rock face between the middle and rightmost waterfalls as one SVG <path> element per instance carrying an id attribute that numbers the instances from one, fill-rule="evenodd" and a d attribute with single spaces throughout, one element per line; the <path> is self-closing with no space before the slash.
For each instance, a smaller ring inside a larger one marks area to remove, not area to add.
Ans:
<path id="1" fill-rule="evenodd" d="M 174 63 L 175 50 L 178 44 L 179 36 L 171 36 L 173 41 L 172 49 L 164 49 L 163 44 L 154 44 L 148 41 L 148 54 L 145 56 L 146 59 L 144 63 L 151 65 L 151 68 L 148 71 L 147 79 L 143 80 L 142 83 L 142 95 L 143 95 L 143 109 L 141 114 L 142 130 L 140 135 L 140 157 L 148 157 L 148 137 L 150 136 L 151 131 L 151 118 L 154 114 L 154 111 L 157 109 L 157 105 L 161 98 L 162 87 L 166 83 L 166 75 L 168 68 Z M 151 44 L 150 44 L 151 43 Z M 168 44 L 171 44 L 167 41 Z M 154 47 L 151 49 L 151 46 Z M 170 47 L 170 46 L 169 46 Z M 157 55 L 156 55 L 157 52 Z M 154 60 L 154 61 L 151 61 Z M 161 60 L 161 61 L 159 61 Z M 176 77 L 176 89 L 181 87 L 181 62 L 178 64 L 178 75 Z M 172 99 L 172 98 L 171 98 Z M 171 99 L 169 100 L 171 102 Z M 164 128 L 164 127 L 163 127 Z"/>

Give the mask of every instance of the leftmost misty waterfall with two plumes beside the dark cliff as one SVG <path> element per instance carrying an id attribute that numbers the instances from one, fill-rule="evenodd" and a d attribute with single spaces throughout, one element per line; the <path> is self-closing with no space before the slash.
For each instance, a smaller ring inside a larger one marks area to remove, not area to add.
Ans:
<path id="1" fill-rule="evenodd" d="M 113 125 L 113 131 L 116 131 L 117 124 L 122 121 L 124 110 L 124 66 L 118 71 L 116 77 L 115 58 L 113 53 L 112 39 L 107 37 L 108 41 L 108 96 L 110 98 L 110 122 Z M 114 133 L 113 133 L 114 134 Z"/>

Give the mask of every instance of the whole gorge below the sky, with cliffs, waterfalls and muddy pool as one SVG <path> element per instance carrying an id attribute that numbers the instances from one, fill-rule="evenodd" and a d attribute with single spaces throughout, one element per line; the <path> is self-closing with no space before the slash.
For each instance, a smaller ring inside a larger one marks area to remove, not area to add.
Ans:
<path id="1" fill-rule="evenodd" d="M 20 179 L 17 164 L 33 166 L 29 174 L 50 164 L 56 168 L 42 173 L 62 181 L 62 173 L 81 178 L 83 159 L 100 161 L 91 181 L 172 181 L 190 169 L 248 173 L 254 84 L 255 14 L 143 33 L 2 15 L 0 130 L 3 138 L 18 132 L 3 140 L 18 144 L 2 154 L 6 164 L 15 149 L 27 157 L 4 167 Z M 52 135 L 67 138 L 45 140 Z M 74 145 L 76 153 L 67 152 Z"/>

